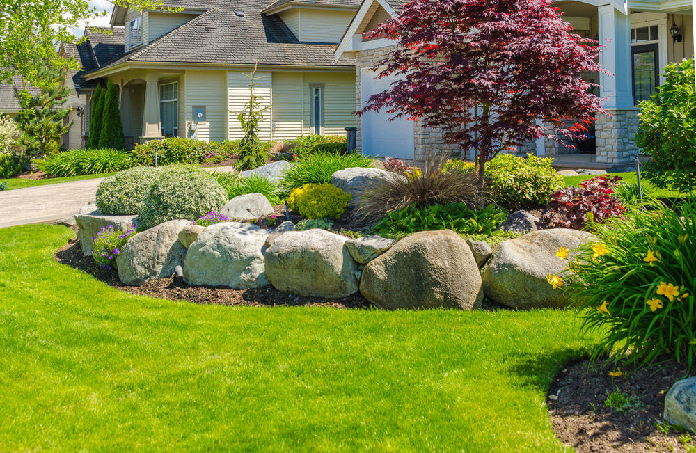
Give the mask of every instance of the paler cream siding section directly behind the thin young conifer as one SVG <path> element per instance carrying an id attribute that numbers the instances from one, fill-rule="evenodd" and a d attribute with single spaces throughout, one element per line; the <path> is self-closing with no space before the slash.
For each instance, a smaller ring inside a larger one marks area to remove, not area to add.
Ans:
<path id="1" fill-rule="evenodd" d="M 229 125 L 228 138 L 238 140 L 244 136 L 242 125 L 237 120 L 237 114 L 244 110 L 244 104 L 249 100 L 249 77 L 248 72 L 229 71 L 227 73 L 227 93 Z M 271 73 L 257 72 L 255 79 L 255 94 L 262 97 L 264 104 L 271 104 Z M 266 111 L 266 118 L 258 128 L 258 137 L 261 140 L 271 140 L 271 118 L 273 111 Z"/>

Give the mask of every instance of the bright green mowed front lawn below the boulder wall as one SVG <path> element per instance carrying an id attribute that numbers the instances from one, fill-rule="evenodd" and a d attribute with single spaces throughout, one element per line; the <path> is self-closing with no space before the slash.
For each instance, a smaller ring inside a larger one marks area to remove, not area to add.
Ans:
<path id="1" fill-rule="evenodd" d="M 0 230 L 0 450 L 564 451 L 571 311 L 234 308 L 134 296 Z"/>

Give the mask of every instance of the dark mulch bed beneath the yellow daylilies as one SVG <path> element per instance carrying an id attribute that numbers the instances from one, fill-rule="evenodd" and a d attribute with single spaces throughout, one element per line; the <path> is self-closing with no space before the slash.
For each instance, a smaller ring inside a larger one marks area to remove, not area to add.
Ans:
<path id="1" fill-rule="evenodd" d="M 664 424 L 662 418 L 667 390 L 688 376 L 683 365 L 666 360 L 644 369 L 619 367 L 624 376 L 609 376 L 614 369 L 613 360 L 592 366 L 585 361 L 556 376 L 547 401 L 553 429 L 563 443 L 578 452 L 686 452 L 685 445 L 696 447 L 686 431 Z M 606 407 L 607 395 L 617 388 L 638 397 L 640 406 L 626 413 Z"/>

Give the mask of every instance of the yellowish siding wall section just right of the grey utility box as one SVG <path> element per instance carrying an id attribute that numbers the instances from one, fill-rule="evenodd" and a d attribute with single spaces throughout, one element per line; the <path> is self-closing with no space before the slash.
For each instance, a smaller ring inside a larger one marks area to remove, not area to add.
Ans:
<path id="1" fill-rule="evenodd" d="M 210 123 L 210 140 L 225 140 L 228 127 L 226 74 L 225 71 L 186 72 L 183 93 L 184 122 L 180 122 L 180 127 L 185 128 L 186 121 L 193 120 L 193 106 L 205 106 L 205 119 Z M 182 107 L 179 108 L 181 111 Z"/>

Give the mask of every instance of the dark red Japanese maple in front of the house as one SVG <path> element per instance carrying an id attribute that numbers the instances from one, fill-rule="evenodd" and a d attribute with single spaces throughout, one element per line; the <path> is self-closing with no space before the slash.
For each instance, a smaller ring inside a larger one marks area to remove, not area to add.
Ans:
<path id="1" fill-rule="evenodd" d="M 584 132 L 603 112 L 583 79 L 603 71 L 599 46 L 572 33 L 551 0 L 415 0 L 367 35 L 398 42 L 372 69 L 401 79 L 358 115 L 387 109 L 442 129 L 475 151 L 480 177 L 499 152 L 542 135 L 557 141 L 551 129 Z"/>

